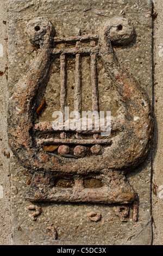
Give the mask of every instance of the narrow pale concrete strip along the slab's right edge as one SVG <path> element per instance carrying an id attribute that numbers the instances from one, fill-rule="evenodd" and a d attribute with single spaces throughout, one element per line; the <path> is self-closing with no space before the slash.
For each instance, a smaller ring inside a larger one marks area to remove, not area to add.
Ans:
<path id="1" fill-rule="evenodd" d="M 154 21 L 154 139 L 153 139 L 153 178 L 152 178 L 152 215 L 153 245 L 163 244 L 163 178 L 162 178 L 162 14 L 163 2 L 154 0 L 154 12 L 158 14 Z"/>

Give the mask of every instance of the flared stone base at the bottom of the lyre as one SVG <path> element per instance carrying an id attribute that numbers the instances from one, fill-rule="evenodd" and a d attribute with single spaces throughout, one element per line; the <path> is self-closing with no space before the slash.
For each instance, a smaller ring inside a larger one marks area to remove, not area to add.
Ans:
<path id="1" fill-rule="evenodd" d="M 69 184 L 69 187 L 63 187 L 58 186 L 55 183 L 57 179 L 62 179 L 62 175 L 58 176 L 53 172 L 35 172 L 31 184 L 25 192 L 25 197 L 27 200 L 32 202 L 80 202 L 106 204 L 127 204 L 134 202 L 136 199 L 136 193 L 133 188 L 125 179 L 122 179 L 122 174 L 117 175 L 116 173 L 116 178 L 113 174 L 114 173 L 112 171 L 108 171 L 107 177 L 101 176 L 101 186 L 85 187 L 85 178 L 74 177 L 73 183 Z M 112 177 L 112 179 L 110 177 Z"/>

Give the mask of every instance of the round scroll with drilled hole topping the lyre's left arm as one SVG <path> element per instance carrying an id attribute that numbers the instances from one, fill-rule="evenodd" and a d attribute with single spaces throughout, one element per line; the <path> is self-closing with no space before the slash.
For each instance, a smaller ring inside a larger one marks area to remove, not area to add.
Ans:
<path id="1" fill-rule="evenodd" d="M 44 17 L 37 17 L 27 24 L 27 34 L 31 44 L 40 46 L 48 44 L 55 35 L 52 23 Z"/>

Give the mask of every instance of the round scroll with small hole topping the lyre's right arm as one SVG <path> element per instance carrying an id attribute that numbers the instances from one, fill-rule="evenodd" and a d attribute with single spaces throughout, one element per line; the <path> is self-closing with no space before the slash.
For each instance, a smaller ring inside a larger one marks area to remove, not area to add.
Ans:
<path id="1" fill-rule="evenodd" d="M 119 17 L 106 23 L 100 34 L 114 45 L 128 45 L 135 38 L 136 32 L 129 20 Z"/>

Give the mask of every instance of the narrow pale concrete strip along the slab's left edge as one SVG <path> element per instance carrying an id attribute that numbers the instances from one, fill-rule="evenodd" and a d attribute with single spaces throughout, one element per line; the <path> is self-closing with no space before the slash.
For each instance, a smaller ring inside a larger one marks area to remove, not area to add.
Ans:
<path id="1" fill-rule="evenodd" d="M 0 86 L 1 86 L 1 156 L 0 156 L 0 244 L 12 245 L 11 238 L 11 208 L 10 208 L 10 167 L 9 167 L 9 154 L 10 149 L 8 146 L 7 137 L 7 102 L 8 102 L 8 39 L 7 39 L 7 2 L 0 2 Z"/>

